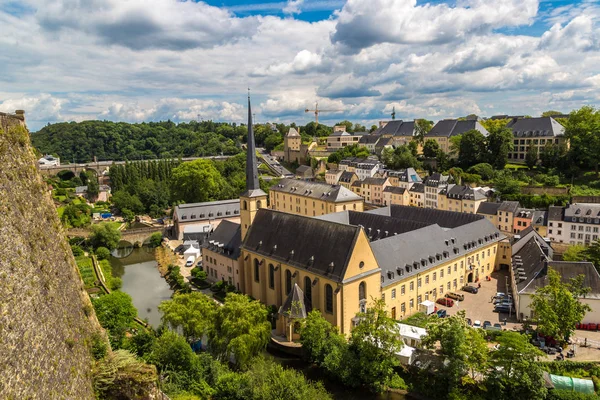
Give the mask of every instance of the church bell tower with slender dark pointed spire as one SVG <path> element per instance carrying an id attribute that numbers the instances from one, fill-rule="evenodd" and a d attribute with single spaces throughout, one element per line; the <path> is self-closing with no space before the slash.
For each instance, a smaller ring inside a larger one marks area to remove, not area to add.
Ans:
<path id="1" fill-rule="evenodd" d="M 258 183 L 258 166 L 256 165 L 256 145 L 254 143 L 254 128 L 252 127 L 252 110 L 250 93 L 248 93 L 248 143 L 246 153 L 246 191 L 240 196 L 240 220 L 242 240 L 250 229 L 254 216 L 260 208 L 267 207 L 267 194 Z"/>

